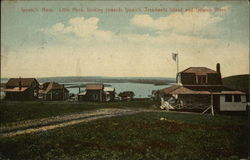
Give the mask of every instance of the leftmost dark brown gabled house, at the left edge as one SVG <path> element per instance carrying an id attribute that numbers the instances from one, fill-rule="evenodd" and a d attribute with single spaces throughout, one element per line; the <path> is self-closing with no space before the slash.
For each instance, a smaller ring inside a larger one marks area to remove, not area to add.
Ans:
<path id="1" fill-rule="evenodd" d="M 6 100 L 36 100 L 39 83 L 35 78 L 11 78 L 5 85 Z"/>

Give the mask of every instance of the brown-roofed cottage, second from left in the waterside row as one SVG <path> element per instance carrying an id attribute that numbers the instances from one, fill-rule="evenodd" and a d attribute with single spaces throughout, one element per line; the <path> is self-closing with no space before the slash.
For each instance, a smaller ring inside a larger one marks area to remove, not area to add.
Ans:
<path id="1" fill-rule="evenodd" d="M 40 86 L 39 98 L 46 101 L 66 100 L 69 97 L 69 91 L 64 85 L 56 82 L 46 82 Z"/>

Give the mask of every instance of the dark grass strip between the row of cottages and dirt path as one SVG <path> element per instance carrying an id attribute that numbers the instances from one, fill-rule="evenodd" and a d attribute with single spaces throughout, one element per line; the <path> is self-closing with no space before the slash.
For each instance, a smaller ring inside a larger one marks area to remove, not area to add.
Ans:
<path id="1" fill-rule="evenodd" d="M 159 102 L 135 100 L 110 103 L 74 102 L 2 102 L 0 104 L 0 125 L 9 122 L 45 118 L 63 114 L 83 112 L 100 108 L 155 108 Z"/>

